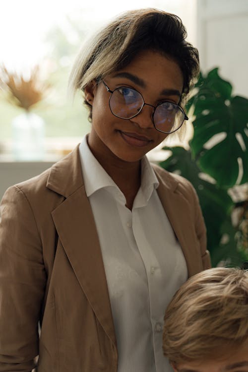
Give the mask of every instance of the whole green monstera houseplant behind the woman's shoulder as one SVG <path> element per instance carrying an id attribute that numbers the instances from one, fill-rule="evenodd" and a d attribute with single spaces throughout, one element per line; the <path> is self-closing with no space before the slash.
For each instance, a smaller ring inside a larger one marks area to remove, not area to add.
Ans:
<path id="1" fill-rule="evenodd" d="M 160 165 L 195 187 L 212 265 L 240 265 L 248 260 L 247 195 L 235 200 L 232 191 L 239 193 L 237 185 L 248 182 L 248 99 L 233 96 L 230 82 L 214 68 L 206 76 L 200 74 L 187 111 L 194 128 L 190 148 L 164 147 L 172 154 Z"/>

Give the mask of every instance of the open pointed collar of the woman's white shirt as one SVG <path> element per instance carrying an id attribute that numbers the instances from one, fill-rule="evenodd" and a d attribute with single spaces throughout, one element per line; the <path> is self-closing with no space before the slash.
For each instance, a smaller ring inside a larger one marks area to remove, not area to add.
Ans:
<path id="1" fill-rule="evenodd" d="M 87 135 L 83 137 L 79 145 L 79 155 L 84 178 L 86 195 L 89 197 L 101 188 L 109 188 L 116 194 L 117 189 L 123 195 L 122 191 L 115 184 L 112 178 L 104 170 L 101 164 L 94 157 L 87 143 Z M 154 188 L 159 186 L 158 179 L 152 169 L 148 159 L 144 156 L 141 160 L 141 187 L 146 201 L 149 200 Z M 119 193 L 119 192 L 118 192 Z M 123 198 L 121 198 L 123 199 Z"/>

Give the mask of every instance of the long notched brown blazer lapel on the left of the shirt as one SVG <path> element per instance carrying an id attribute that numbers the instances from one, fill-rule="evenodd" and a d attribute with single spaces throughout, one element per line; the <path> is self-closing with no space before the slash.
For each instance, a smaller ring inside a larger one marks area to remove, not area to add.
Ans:
<path id="1" fill-rule="evenodd" d="M 102 253 L 77 148 L 52 167 L 47 186 L 65 196 L 52 213 L 59 238 L 96 317 L 116 345 Z"/>

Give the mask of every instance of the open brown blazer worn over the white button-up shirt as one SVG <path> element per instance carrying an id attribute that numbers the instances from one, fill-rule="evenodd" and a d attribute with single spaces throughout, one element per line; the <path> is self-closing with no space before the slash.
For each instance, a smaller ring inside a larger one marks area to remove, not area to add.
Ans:
<path id="1" fill-rule="evenodd" d="M 184 178 L 154 169 L 191 276 L 210 267 L 195 190 Z M 101 248 L 76 148 L 3 196 L 0 372 L 116 372 L 117 361 Z"/>

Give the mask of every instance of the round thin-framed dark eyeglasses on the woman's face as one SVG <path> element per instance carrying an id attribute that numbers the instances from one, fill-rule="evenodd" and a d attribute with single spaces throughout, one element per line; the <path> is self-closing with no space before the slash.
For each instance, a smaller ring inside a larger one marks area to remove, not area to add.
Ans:
<path id="1" fill-rule="evenodd" d="M 144 102 L 142 95 L 135 89 L 122 86 L 111 90 L 102 80 L 107 91 L 111 93 L 109 107 L 113 115 L 120 119 L 132 119 L 137 116 L 145 105 L 154 108 L 152 121 L 154 127 L 162 133 L 173 133 L 188 120 L 181 106 L 164 101 L 157 106 Z"/>

